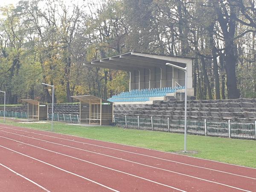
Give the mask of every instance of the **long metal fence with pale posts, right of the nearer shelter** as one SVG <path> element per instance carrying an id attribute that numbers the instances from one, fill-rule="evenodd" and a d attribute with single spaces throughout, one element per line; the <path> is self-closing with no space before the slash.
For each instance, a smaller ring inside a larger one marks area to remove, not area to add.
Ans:
<path id="1" fill-rule="evenodd" d="M 114 116 L 114 122 L 123 128 L 184 133 L 184 119 Z M 256 140 L 256 122 L 187 119 L 187 133 Z"/>

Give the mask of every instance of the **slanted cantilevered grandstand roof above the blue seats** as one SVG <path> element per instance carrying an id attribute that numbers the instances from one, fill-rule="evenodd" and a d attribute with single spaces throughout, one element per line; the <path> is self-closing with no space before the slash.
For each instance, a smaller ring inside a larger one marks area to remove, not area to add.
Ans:
<path id="1" fill-rule="evenodd" d="M 186 63 L 193 58 L 179 57 L 171 55 L 157 55 L 144 52 L 128 52 L 108 58 L 99 59 L 84 63 L 85 66 L 101 67 L 114 70 L 139 70 L 151 67 L 165 66 L 166 63 L 172 63 L 180 67 L 186 67 Z"/>

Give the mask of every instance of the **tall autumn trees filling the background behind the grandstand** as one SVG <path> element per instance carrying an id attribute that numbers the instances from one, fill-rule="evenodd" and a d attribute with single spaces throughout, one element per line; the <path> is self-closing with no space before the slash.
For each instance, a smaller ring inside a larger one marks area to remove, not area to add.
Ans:
<path id="1" fill-rule="evenodd" d="M 256 98 L 255 0 L 21 0 L 0 8 L 7 103 L 128 90 L 125 71 L 86 61 L 129 51 L 194 57 L 197 99 Z M 0 95 L 3 101 L 3 96 Z"/>

